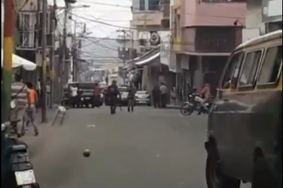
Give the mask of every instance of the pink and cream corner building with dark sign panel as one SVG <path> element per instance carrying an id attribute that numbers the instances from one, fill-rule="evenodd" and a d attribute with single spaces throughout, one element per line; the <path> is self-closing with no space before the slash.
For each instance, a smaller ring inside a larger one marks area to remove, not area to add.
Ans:
<path id="1" fill-rule="evenodd" d="M 171 71 L 176 85 L 216 85 L 228 55 L 242 42 L 246 3 L 171 1 Z M 209 75 L 209 76 L 207 76 Z"/>

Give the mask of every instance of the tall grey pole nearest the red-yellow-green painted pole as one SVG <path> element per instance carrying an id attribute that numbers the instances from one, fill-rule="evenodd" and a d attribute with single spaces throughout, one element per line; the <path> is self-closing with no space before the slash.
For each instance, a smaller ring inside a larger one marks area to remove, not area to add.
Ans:
<path id="1" fill-rule="evenodd" d="M 46 123 L 46 24 L 47 0 L 42 2 L 42 123 Z"/>

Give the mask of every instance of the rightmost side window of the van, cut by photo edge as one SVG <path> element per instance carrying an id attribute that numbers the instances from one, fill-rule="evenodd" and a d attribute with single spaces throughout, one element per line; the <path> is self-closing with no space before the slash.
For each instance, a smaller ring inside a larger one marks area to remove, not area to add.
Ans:
<path id="1" fill-rule="evenodd" d="M 258 83 L 259 85 L 275 83 L 282 65 L 282 45 L 274 46 L 266 51 L 266 57 L 261 67 Z"/>

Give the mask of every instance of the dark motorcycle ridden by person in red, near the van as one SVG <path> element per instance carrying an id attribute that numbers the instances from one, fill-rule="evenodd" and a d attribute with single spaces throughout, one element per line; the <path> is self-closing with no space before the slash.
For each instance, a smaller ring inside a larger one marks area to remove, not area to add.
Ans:
<path id="1" fill-rule="evenodd" d="M 189 94 L 188 101 L 184 102 L 181 105 L 180 112 L 184 116 L 191 115 L 194 111 L 197 111 L 198 113 L 208 114 L 210 111 L 210 108 L 212 107 L 212 101 L 209 101 L 205 103 L 204 105 L 201 105 L 198 101 L 196 101 L 196 97 L 198 94 Z"/>

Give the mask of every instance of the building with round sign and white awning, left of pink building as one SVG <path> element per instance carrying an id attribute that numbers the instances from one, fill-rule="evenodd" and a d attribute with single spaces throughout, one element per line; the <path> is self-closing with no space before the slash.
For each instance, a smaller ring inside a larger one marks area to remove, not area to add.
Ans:
<path id="1" fill-rule="evenodd" d="M 130 25 L 136 28 L 139 58 L 131 62 L 132 72 L 128 76 L 139 89 L 149 91 L 168 75 L 168 65 L 160 62 L 160 49 L 163 38 L 170 33 L 170 1 L 132 0 Z"/>

